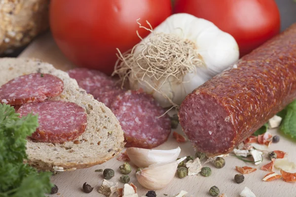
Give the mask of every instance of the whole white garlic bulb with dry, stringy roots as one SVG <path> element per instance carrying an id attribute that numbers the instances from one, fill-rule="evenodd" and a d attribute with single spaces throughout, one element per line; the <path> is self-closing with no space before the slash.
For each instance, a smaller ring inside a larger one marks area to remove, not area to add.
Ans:
<path id="1" fill-rule="evenodd" d="M 190 14 L 173 14 L 150 31 L 131 54 L 121 56 L 115 73 L 120 76 L 119 69 L 126 67 L 130 88 L 142 88 L 162 107 L 181 104 L 195 88 L 239 58 L 230 34 Z"/>

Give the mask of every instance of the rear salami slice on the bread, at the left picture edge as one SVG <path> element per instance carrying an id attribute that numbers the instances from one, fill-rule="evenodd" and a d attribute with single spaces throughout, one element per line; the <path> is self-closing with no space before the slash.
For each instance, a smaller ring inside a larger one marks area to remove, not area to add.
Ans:
<path id="1" fill-rule="evenodd" d="M 51 74 L 32 73 L 8 81 L 0 88 L 0 103 L 21 105 L 59 96 L 63 81 Z"/>

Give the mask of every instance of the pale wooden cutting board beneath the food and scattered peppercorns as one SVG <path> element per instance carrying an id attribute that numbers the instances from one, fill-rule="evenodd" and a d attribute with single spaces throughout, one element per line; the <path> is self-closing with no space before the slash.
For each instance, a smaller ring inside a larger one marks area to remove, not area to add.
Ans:
<path id="1" fill-rule="evenodd" d="M 40 36 L 35 40 L 28 48 L 20 54 L 19 57 L 38 58 L 45 62 L 53 64 L 56 68 L 61 70 L 68 70 L 75 67 L 71 64 L 58 49 L 50 33 Z M 171 111 L 170 114 L 176 113 Z M 182 129 L 179 126 L 174 130 L 182 133 Z M 296 162 L 296 141 L 289 140 L 283 137 L 277 130 L 270 130 L 272 134 L 278 134 L 281 136 L 280 142 L 272 144 L 268 150 L 282 150 L 289 153 L 288 158 L 291 161 Z M 180 157 L 194 155 L 194 150 L 190 145 L 190 142 L 177 143 L 175 139 L 170 136 L 168 141 L 157 149 L 174 149 L 180 146 L 182 151 Z M 239 193 L 245 188 L 250 188 L 257 197 L 296 197 L 296 185 L 295 183 L 286 183 L 282 179 L 278 179 L 272 182 L 264 182 L 262 178 L 268 172 L 262 171 L 259 168 L 263 164 L 267 164 L 270 161 L 267 159 L 267 153 L 264 154 L 264 160 L 262 164 L 254 165 L 245 163 L 235 157 L 229 156 L 225 158 L 226 164 L 223 168 L 217 169 L 213 164 L 206 164 L 212 168 L 212 175 L 210 177 L 203 177 L 201 175 L 187 176 L 183 179 L 177 177 L 171 182 L 169 186 L 164 189 L 157 190 L 157 197 L 174 197 L 181 190 L 188 192 L 186 197 L 210 197 L 209 189 L 216 185 L 222 193 L 226 193 L 227 197 L 239 197 Z M 112 182 L 118 182 L 119 187 L 123 187 L 123 183 L 119 181 L 120 174 L 118 167 L 123 162 L 117 161 L 115 158 L 106 162 L 105 164 L 96 165 L 86 169 L 78 169 L 75 171 L 60 172 L 57 175 L 52 176 L 52 182 L 59 188 L 57 195 L 54 197 L 104 197 L 99 194 L 98 188 L 102 184 L 103 177 L 102 172 L 95 172 L 96 169 L 112 168 L 115 171 L 115 176 L 111 179 Z M 235 166 L 251 166 L 256 167 L 257 171 L 246 174 L 245 181 L 241 184 L 234 182 L 234 175 L 238 174 L 235 170 Z M 136 166 L 133 166 L 133 171 L 129 174 L 132 183 L 138 187 L 139 196 L 146 195 L 148 189 L 143 188 L 135 177 Z M 276 170 L 280 173 L 279 170 Z M 94 190 L 90 194 L 85 194 L 82 191 L 82 185 L 87 182 Z M 114 195 L 114 197 L 117 195 Z"/>

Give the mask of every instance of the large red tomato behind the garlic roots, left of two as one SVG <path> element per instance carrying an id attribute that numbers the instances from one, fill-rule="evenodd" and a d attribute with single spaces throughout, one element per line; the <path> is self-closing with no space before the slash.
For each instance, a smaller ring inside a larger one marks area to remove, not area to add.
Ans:
<path id="1" fill-rule="evenodd" d="M 65 54 L 77 66 L 111 74 L 116 48 L 121 52 L 140 42 L 148 31 L 136 20 L 154 28 L 171 15 L 170 0 L 51 0 L 50 28 Z"/>

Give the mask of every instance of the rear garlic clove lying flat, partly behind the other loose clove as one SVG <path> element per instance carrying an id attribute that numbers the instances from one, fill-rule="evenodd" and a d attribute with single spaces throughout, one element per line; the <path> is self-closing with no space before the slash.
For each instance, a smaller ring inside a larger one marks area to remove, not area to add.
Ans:
<path id="1" fill-rule="evenodd" d="M 148 167 L 151 164 L 167 164 L 174 162 L 177 160 L 180 152 L 180 147 L 172 150 L 151 150 L 135 147 L 126 149 L 126 153 L 131 162 L 138 167 Z"/>

